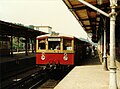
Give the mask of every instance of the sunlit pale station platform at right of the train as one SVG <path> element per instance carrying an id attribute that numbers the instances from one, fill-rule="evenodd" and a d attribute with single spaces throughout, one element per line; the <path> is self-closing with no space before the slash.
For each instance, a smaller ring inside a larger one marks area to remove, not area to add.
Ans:
<path id="1" fill-rule="evenodd" d="M 87 60 L 84 65 L 74 67 L 54 89 L 108 89 L 109 71 L 103 70 L 98 57 L 96 58 Z M 120 63 L 116 63 L 117 84 L 120 89 Z"/>

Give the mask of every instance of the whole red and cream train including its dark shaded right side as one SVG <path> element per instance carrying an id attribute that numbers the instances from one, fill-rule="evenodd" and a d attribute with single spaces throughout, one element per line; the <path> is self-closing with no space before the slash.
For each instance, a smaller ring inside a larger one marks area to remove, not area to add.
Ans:
<path id="1" fill-rule="evenodd" d="M 74 36 L 46 34 L 36 38 L 36 64 L 76 65 L 85 56 L 86 42 Z"/>

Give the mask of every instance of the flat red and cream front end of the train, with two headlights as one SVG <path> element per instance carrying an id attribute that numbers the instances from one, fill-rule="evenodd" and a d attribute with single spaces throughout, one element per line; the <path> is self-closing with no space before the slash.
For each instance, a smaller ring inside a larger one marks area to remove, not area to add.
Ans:
<path id="1" fill-rule="evenodd" d="M 60 34 L 38 36 L 36 64 L 74 65 L 74 38 Z"/>

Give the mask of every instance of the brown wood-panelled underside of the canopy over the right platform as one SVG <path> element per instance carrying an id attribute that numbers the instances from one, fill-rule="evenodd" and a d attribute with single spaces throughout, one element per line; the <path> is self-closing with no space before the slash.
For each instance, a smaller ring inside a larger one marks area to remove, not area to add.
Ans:
<path id="1" fill-rule="evenodd" d="M 83 0 L 100 10 L 110 13 L 110 1 L 109 0 Z M 93 41 L 98 40 L 98 30 L 100 29 L 102 15 L 90 7 L 84 5 L 80 0 L 63 0 L 68 9 L 75 16 L 84 30 L 92 36 Z"/>

